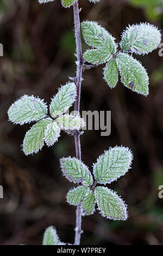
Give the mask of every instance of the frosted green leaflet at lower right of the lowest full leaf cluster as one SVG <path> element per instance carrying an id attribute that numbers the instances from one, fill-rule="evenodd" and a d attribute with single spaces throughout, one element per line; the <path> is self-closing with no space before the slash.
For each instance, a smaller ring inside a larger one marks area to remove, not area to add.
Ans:
<path id="1" fill-rule="evenodd" d="M 106 187 L 96 187 L 95 198 L 98 210 L 103 217 L 114 219 L 114 221 L 126 221 L 127 206 L 114 191 Z"/>

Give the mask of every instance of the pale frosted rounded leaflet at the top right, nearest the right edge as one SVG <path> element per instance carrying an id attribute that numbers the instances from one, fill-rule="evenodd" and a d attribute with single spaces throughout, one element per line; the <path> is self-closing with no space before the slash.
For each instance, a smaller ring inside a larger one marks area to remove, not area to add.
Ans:
<path id="1" fill-rule="evenodd" d="M 127 52 L 145 54 L 156 49 L 161 42 L 161 33 L 149 23 L 129 26 L 122 34 L 121 47 Z"/>

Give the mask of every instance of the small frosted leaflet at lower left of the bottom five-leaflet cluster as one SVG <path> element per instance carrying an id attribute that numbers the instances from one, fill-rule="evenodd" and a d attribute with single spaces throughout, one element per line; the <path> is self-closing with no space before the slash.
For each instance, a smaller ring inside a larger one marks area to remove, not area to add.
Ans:
<path id="1" fill-rule="evenodd" d="M 86 194 L 89 192 L 89 187 L 79 186 L 77 188 L 71 189 L 67 194 L 67 202 L 70 205 L 78 205 L 83 201 Z"/>

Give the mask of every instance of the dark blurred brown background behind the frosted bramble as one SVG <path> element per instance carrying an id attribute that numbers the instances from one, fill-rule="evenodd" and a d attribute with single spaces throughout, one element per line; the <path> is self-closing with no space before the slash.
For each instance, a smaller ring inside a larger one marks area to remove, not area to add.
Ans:
<path id="1" fill-rule="evenodd" d="M 128 24 L 151 22 L 163 28 L 162 0 L 79 0 L 81 20 L 99 22 L 117 39 Z M 74 156 L 74 140 L 62 132 L 53 147 L 24 156 L 21 144 L 29 125 L 8 122 L 11 103 L 23 94 L 34 94 L 50 103 L 68 76 L 74 76 L 75 40 L 73 9 L 60 0 L 0 1 L 0 199 L 1 245 L 41 245 L 43 232 L 54 225 L 61 241 L 74 241 L 75 207 L 65 202 L 73 183 L 61 176 L 59 158 Z M 83 50 L 87 49 L 83 41 Z M 121 82 L 114 90 L 103 80 L 103 66 L 85 70 L 81 110 L 111 110 L 111 135 L 85 131 L 81 136 L 82 159 L 90 169 L 109 146 L 128 146 L 134 153 L 132 169 L 109 187 L 126 201 L 127 222 L 95 215 L 83 218 L 83 245 L 161 245 L 163 243 L 162 106 L 163 57 L 159 49 L 135 56 L 148 70 L 149 96 L 131 92 Z"/>

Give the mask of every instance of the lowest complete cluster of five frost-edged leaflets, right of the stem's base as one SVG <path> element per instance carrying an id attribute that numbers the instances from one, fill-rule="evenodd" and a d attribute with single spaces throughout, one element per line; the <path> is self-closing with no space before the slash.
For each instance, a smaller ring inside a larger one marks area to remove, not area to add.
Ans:
<path id="1" fill-rule="evenodd" d="M 96 187 L 96 183 L 106 184 L 117 180 L 130 169 L 132 159 L 133 154 L 128 147 L 109 148 L 99 156 L 96 164 L 93 164 L 95 183 L 92 187 L 91 173 L 83 162 L 71 157 L 60 159 L 63 175 L 69 181 L 82 182 L 84 185 L 70 190 L 67 194 L 67 202 L 75 206 L 82 203 L 83 216 L 93 214 L 97 203 L 102 216 L 126 220 L 127 210 L 123 200 L 107 187 Z M 83 180 L 83 177 L 86 178 Z M 88 182 L 89 180 L 91 182 Z"/>

